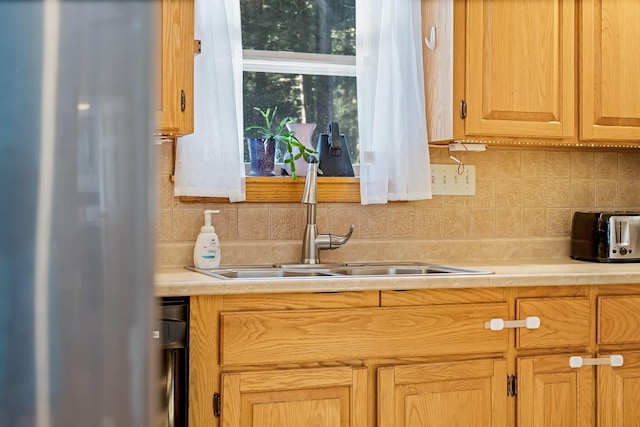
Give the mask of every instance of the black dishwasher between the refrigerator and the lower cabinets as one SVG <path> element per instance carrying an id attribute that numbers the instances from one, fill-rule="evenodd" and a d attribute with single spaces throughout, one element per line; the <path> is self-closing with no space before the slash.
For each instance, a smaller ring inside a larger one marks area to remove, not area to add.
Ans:
<path id="1" fill-rule="evenodd" d="M 158 329 L 161 369 L 159 394 L 160 427 L 187 427 L 189 391 L 189 298 L 159 300 Z"/>

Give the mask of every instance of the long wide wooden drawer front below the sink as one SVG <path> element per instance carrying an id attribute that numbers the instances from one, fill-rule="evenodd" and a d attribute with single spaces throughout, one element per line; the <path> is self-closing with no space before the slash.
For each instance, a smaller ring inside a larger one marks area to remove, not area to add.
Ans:
<path id="1" fill-rule="evenodd" d="M 222 365 L 505 352 L 506 303 L 221 314 Z"/>

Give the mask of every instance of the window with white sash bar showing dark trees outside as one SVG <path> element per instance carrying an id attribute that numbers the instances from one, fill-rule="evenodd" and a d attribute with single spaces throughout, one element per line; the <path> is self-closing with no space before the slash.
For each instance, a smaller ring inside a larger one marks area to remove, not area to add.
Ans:
<path id="1" fill-rule="evenodd" d="M 317 123 L 315 143 L 337 121 L 358 163 L 355 0 L 240 0 L 240 11 L 244 127 L 262 123 L 254 107 L 277 107 L 278 121 Z"/>

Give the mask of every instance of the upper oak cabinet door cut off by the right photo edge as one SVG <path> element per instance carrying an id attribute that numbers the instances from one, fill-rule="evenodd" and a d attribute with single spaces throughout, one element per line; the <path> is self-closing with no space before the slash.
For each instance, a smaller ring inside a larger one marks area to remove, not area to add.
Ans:
<path id="1" fill-rule="evenodd" d="M 582 139 L 640 138 L 640 2 L 584 0 L 581 37 Z"/>

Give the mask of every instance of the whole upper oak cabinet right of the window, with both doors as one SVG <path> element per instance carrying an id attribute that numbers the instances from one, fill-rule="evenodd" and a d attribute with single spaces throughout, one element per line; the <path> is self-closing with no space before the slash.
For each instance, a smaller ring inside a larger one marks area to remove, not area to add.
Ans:
<path id="1" fill-rule="evenodd" d="M 640 2 L 424 0 L 422 12 L 430 141 L 638 144 Z"/>

